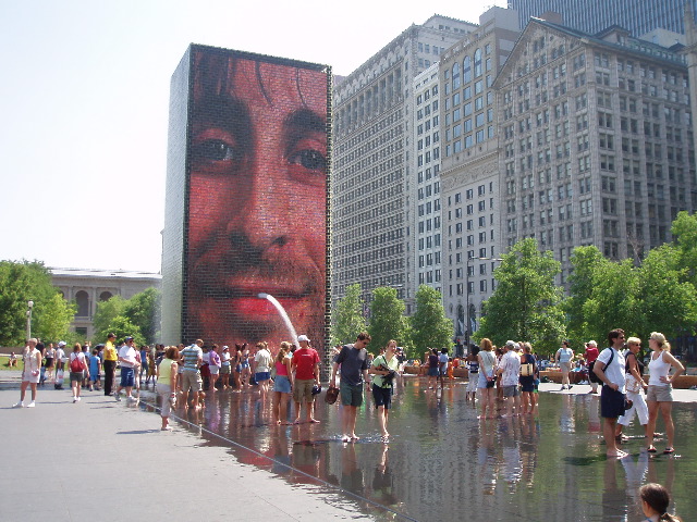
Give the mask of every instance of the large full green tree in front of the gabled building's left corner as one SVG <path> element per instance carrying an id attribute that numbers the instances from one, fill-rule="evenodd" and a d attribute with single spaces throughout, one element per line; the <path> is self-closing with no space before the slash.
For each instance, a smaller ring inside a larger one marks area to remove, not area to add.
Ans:
<path id="1" fill-rule="evenodd" d="M 497 289 L 475 337 L 496 345 L 529 340 L 538 351 L 552 351 L 565 335 L 562 289 L 554 285 L 560 270 L 552 252 L 540 252 L 535 239 L 516 243 L 494 271 Z"/>

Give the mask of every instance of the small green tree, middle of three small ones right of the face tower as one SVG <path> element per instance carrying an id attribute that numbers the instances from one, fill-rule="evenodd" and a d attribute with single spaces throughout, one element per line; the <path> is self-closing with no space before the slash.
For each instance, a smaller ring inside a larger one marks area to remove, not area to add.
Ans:
<path id="1" fill-rule="evenodd" d="M 404 301 L 396 297 L 395 288 L 380 286 L 372 290 L 368 324 L 368 332 L 372 337 L 368 346 L 371 352 L 378 353 L 390 339 L 395 339 L 400 344 L 406 338 L 405 309 Z"/>

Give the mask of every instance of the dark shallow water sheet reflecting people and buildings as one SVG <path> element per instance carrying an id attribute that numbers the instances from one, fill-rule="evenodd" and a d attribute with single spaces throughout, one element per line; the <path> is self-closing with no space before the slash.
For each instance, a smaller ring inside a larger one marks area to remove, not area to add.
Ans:
<path id="1" fill-rule="evenodd" d="M 465 386 L 425 391 L 418 377 L 398 384 L 390 413 L 389 445 L 371 398 L 358 410 L 362 439 L 341 442 L 338 403 L 317 402 L 321 424 L 271 424 L 270 400 L 255 389 L 207 398 L 201 412 L 176 410 L 207 444 L 231 447 L 234 458 L 293 484 L 323 484 L 378 520 L 641 520 L 636 490 L 665 485 L 678 514 L 697 512 L 686 481 L 697 472 L 695 405 L 674 405 L 681 457 L 643 451 L 640 426 L 623 446 L 631 455 L 607 460 L 599 431 L 598 398 L 541 394 L 539 414 L 509 420 L 476 419 Z M 291 409 L 289 409 L 292 415 Z M 173 418 L 174 420 L 174 418 Z M 248 448 L 244 449 L 244 448 Z"/>

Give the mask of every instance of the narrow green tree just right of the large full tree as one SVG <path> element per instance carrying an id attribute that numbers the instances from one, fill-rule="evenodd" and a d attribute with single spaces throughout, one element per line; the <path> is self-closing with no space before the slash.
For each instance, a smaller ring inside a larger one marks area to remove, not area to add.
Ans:
<path id="1" fill-rule="evenodd" d="M 584 304 L 592 295 L 595 272 L 609 262 L 596 246 L 576 247 L 571 256 L 573 271 L 568 275 L 568 298 L 564 301 L 564 310 L 572 346 L 583 343 L 587 335 Z"/>

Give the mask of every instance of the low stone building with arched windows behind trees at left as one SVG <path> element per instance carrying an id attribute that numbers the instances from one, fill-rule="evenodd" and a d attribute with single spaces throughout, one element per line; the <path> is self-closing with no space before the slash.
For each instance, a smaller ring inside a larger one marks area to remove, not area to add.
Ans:
<path id="1" fill-rule="evenodd" d="M 93 320 L 97 303 L 113 296 L 131 299 L 148 288 L 159 288 L 160 274 L 130 272 L 124 270 L 49 269 L 51 283 L 60 289 L 63 298 L 75 301 L 77 312 L 71 328 L 86 339 L 95 333 Z M 102 339 L 106 340 L 106 339 Z"/>

